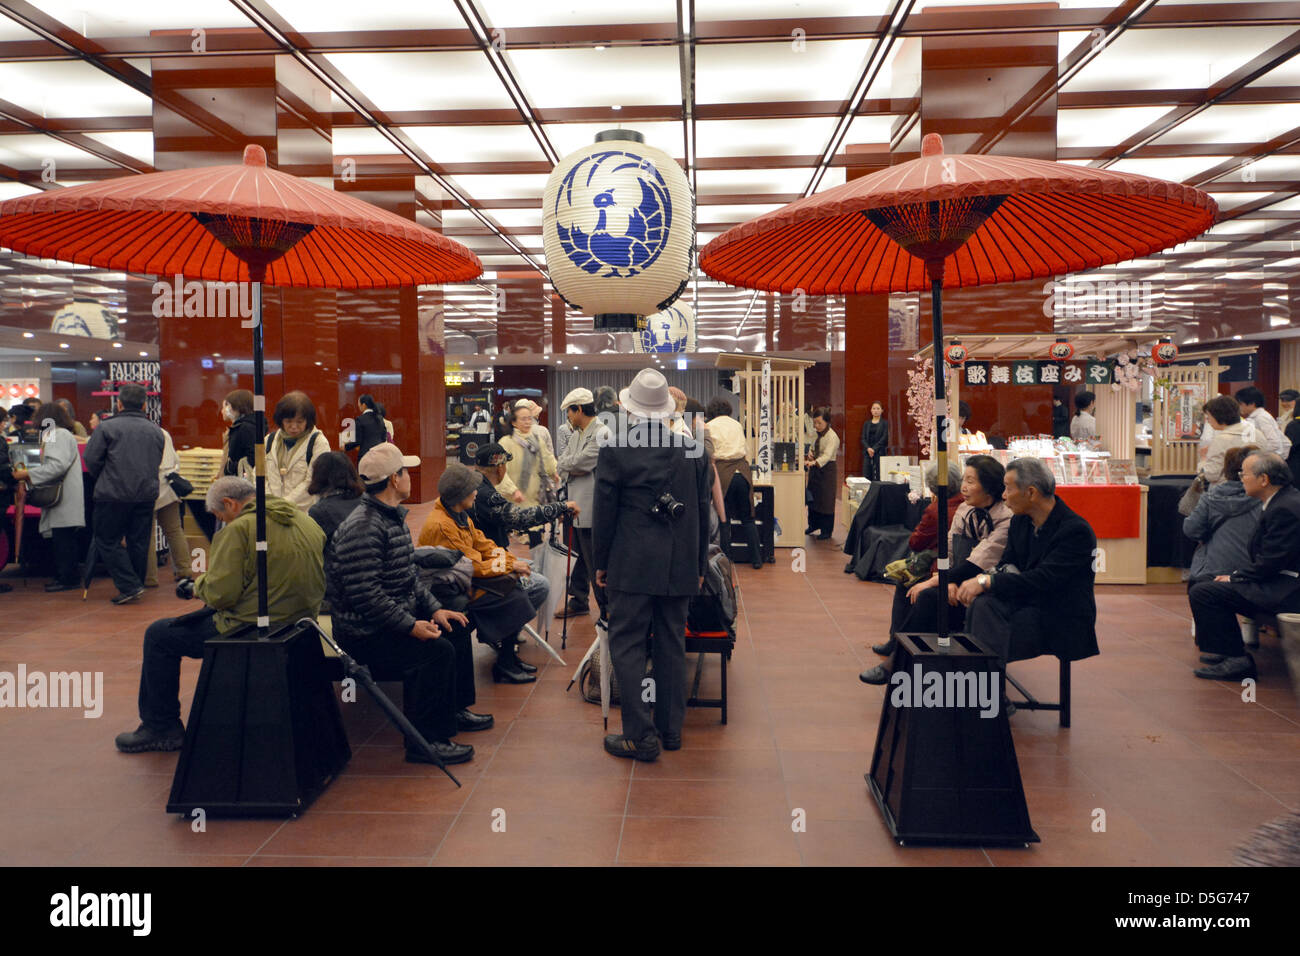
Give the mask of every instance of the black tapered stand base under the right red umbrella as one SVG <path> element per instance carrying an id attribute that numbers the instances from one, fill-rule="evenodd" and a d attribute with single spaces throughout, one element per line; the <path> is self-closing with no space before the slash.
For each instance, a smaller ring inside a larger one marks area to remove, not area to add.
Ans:
<path id="1" fill-rule="evenodd" d="M 1037 843 L 997 656 L 968 635 L 900 633 L 867 787 L 898 843 Z"/>

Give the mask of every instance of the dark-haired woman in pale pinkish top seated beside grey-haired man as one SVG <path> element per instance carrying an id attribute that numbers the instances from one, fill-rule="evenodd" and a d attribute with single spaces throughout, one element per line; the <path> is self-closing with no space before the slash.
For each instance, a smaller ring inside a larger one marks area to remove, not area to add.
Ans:
<path id="1" fill-rule="evenodd" d="M 966 607 L 957 600 L 962 581 L 997 567 L 1006 548 L 1011 527 L 1011 510 L 1002 501 L 1005 471 L 989 455 L 971 455 L 962 470 L 961 493 L 965 501 L 957 506 L 948 531 L 948 628 L 957 631 L 966 617 Z M 939 627 L 939 572 L 907 587 L 894 588 L 893 611 L 889 620 L 889 640 L 871 649 L 883 657 L 893 654 L 898 645 L 897 633 L 933 633 Z M 885 665 L 871 667 L 858 678 L 864 684 L 884 684 L 889 680 Z"/>

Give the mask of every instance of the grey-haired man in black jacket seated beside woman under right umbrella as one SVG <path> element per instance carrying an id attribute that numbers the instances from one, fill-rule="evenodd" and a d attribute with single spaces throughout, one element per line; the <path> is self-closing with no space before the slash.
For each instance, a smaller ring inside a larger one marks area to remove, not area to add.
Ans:
<path id="1" fill-rule="evenodd" d="M 1002 661 L 1100 653 L 1092 594 L 1097 536 L 1056 496 L 1056 479 L 1037 458 L 1006 466 L 1002 499 L 1013 514 L 1002 563 L 957 591 L 970 607 L 966 630 Z"/>

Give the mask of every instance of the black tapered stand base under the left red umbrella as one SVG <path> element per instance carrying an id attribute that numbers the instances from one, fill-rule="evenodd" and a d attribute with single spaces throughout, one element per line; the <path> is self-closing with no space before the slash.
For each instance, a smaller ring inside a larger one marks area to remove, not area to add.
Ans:
<path id="1" fill-rule="evenodd" d="M 166 812 L 296 816 L 351 757 L 316 631 L 240 627 L 204 645 Z"/>

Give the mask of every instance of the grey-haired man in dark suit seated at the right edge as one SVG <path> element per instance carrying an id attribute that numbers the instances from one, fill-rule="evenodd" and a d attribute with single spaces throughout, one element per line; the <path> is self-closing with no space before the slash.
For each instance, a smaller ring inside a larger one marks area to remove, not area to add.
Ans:
<path id="1" fill-rule="evenodd" d="M 1192 585 L 1188 601 L 1206 680 L 1254 676 L 1236 615 L 1300 611 L 1300 490 L 1280 455 L 1256 451 L 1242 463 L 1242 486 L 1264 505 L 1251 537 L 1251 564 Z"/>

